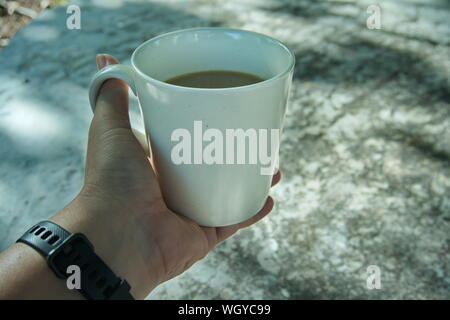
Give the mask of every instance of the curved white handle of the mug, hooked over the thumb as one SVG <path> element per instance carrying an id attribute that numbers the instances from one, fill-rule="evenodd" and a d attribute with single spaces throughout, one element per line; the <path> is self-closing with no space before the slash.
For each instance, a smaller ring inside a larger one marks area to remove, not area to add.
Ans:
<path id="1" fill-rule="evenodd" d="M 103 82 L 111 78 L 125 81 L 131 88 L 131 91 L 133 91 L 134 95 L 137 96 L 133 69 L 123 64 L 110 64 L 97 71 L 97 73 L 91 80 L 91 84 L 89 85 L 89 102 L 91 104 L 92 112 L 95 111 L 95 105 L 97 102 L 97 96 L 100 87 L 102 86 Z M 136 130 L 134 128 L 131 129 L 147 156 L 150 156 L 149 144 L 147 143 L 146 135 L 139 130 Z"/>

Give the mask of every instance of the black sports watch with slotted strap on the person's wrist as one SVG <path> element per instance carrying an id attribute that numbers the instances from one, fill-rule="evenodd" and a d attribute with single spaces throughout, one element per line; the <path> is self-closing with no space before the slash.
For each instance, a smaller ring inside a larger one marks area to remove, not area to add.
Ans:
<path id="1" fill-rule="evenodd" d="M 69 266 L 80 268 L 78 291 L 89 300 L 134 300 L 130 285 L 97 256 L 94 246 L 82 233 L 70 233 L 51 221 L 41 221 L 17 242 L 37 250 L 58 278 L 67 279 Z"/>

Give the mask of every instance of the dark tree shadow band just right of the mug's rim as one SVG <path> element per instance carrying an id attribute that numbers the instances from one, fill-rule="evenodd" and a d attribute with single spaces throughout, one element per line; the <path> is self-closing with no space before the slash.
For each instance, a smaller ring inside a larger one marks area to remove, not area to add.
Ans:
<path id="1" fill-rule="evenodd" d="M 329 40 L 333 41 L 333 40 Z M 396 50 L 358 37 L 347 43 L 335 42 L 342 54 L 329 54 L 315 49 L 295 51 L 294 78 L 326 84 L 364 85 L 379 81 L 380 86 L 402 77 L 402 86 L 416 102 L 429 106 L 430 99 L 448 103 L 450 84 L 444 70 L 436 70 L 414 53 Z M 302 63 L 303 61 L 307 61 Z M 424 90 L 417 90 L 418 88 Z"/>

